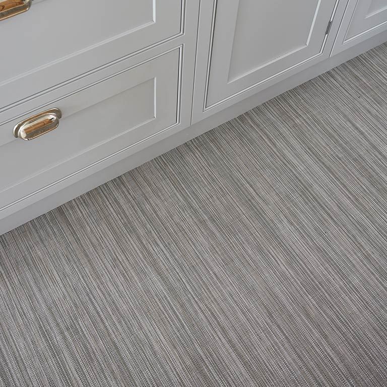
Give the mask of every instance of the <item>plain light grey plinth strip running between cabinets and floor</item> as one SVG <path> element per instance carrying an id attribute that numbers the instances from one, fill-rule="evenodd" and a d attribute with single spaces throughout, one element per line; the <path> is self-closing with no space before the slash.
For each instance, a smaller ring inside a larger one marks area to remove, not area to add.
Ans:
<path id="1" fill-rule="evenodd" d="M 167 137 L 164 140 L 159 141 L 138 153 L 130 155 L 109 166 L 106 166 L 106 168 L 101 168 L 98 172 L 91 173 L 90 175 L 87 175 L 75 183 L 69 179 L 68 185 L 66 185 L 66 182 L 64 182 L 63 187 L 54 193 L 39 198 L 38 201 L 35 201 L 34 203 L 24 207 L 22 210 L 17 210 L 17 207 L 15 207 L 15 212 L 0 220 L 0 235 L 24 224 L 25 222 L 28 222 L 29 220 L 39 215 L 46 213 L 47 211 L 54 209 L 55 207 L 60 206 L 63 203 L 68 202 L 69 200 L 76 198 L 79 195 L 82 195 L 82 193 L 85 193 L 90 189 L 93 189 L 128 170 L 131 170 L 189 140 L 192 140 L 197 136 L 200 136 L 201 134 L 213 129 L 214 127 L 276 97 L 277 95 L 287 90 L 290 90 L 320 74 L 333 69 L 339 64 L 344 63 L 345 61 L 373 47 L 376 47 L 385 41 L 387 41 L 387 31 L 376 35 L 356 46 L 353 46 L 331 58 L 317 63 L 315 66 L 290 78 L 287 78 L 284 81 L 273 85 L 270 88 L 263 90 L 260 93 L 255 94 L 243 101 L 240 101 L 235 105 L 214 114 L 213 116 L 197 122 L 196 124 L 191 125 L 180 132 L 174 133 L 170 137 Z"/>

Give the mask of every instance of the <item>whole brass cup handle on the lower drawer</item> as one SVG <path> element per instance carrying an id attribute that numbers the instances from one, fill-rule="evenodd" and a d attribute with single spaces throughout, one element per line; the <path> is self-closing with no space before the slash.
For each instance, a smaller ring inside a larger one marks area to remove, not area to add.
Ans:
<path id="1" fill-rule="evenodd" d="M 14 127 L 14 136 L 22 140 L 33 140 L 56 129 L 62 112 L 50 109 L 19 122 Z"/>

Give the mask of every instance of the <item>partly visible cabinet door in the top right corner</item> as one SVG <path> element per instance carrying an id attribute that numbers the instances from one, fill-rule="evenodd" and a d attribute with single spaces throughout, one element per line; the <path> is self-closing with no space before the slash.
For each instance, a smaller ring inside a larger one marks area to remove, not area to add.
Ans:
<path id="1" fill-rule="evenodd" d="M 349 0 L 332 54 L 387 30 L 387 0 Z"/>

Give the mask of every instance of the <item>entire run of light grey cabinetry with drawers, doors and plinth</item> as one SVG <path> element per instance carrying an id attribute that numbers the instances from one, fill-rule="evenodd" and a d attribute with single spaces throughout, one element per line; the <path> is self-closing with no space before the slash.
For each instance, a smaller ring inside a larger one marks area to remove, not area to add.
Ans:
<path id="1" fill-rule="evenodd" d="M 387 40 L 387 0 L 111 3 L 0 0 L 0 234 Z"/>

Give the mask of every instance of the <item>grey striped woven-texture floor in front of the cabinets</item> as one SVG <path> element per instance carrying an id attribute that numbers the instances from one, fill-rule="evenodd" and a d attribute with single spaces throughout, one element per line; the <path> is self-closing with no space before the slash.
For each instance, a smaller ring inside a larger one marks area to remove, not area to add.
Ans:
<path id="1" fill-rule="evenodd" d="M 1 386 L 387 386 L 387 44 L 0 237 Z"/>

